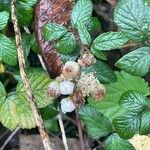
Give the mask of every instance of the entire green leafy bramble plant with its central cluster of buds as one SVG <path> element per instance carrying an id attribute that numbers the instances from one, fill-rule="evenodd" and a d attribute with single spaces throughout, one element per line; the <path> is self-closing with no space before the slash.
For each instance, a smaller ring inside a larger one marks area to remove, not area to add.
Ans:
<path id="1" fill-rule="evenodd" d="M 16 10 L 29 81 L 48 130 L 58 131 L 58 113 L 67 115 L 76 109 L 89 137 L 105 138 L 106 150 L 135 149 L 129 139 L 150 134 L 150 88 L 145 80 L 150 71 L 150 1 L 118 0 L 113 14 L 118 30 L 97 37 L 94 33 L 101 23 L 92 15 L 91 0 L 75 2 L 69 26 L 46 23 L 43 39 L 54 44 L 64 63 L 55 79 L 32 67 L 28 59 L 33 52 L 33 57 L 43 55 L 33 27 L 36 3 L 18 0 Z M 36 123 L 18 73 L 10 16 L 10 1 L 0 1 L 0 122 L 11 130 L 31 129 Z M 126 47 L 130 52 L 111 69 L 107 54 Z M 11 89 L 9 80 L 15 82 Z"/>

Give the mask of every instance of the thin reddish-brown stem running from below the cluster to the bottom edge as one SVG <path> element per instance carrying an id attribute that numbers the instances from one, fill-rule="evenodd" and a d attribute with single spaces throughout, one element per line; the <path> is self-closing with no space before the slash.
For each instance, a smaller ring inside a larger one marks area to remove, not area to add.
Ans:
<path id="1" fill-rule="evenodd" d="M 82 133 L 82 124 L 81 124 L 80 117 L 78 115 L 77 110 L 76 110 L 76 120 L 77 120 L 77 124 L 78 124 L 78 134 L 79 134 L 80 147 L 81 147 L 81 150 L 85 150 L 83 133 Z"/>

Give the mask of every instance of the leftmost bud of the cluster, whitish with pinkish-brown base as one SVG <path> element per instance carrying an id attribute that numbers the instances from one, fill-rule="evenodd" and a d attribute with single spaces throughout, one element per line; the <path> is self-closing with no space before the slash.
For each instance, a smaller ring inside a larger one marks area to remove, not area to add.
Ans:
<path id="1" fill-rule="evenodd" d="M 61 94 L 59 83 L 54 81 L 48 86 L 47 95 L 49 97 L 57 97 Z"/>

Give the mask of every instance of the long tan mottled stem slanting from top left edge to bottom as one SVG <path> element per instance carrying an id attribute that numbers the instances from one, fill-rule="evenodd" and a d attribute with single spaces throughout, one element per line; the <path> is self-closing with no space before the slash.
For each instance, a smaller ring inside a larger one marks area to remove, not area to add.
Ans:
<path id="1" fill-rule="evenodd" d="M 36 125 L 39 129 L 44 148 L 46 150 L 52 150 L 52 146 L 51 146 L 48 134 L 44 127 L 42 117 L 37 108 L 36 99 L 33 95 L 31 85 L 29 83 L 29 79 L 26 74 L 26 66 L 25 66 L 25 58 L 24 58 L 24 54 L 23 54 L 22 38 L 21 38 L 20 29 L 19 29 L 18 19 L 16 16 L 15 5 L 16 5 L 16 0 L 12 0 L 11 1 L 11 17 L 12 17 L 12 22 L 14 25 L 15 40 L 16 40 L 17 54 L 18 54 L 18 61 L 19 61 L 19 68 L 20 68 L 20 76 L 22 78 L 22 81 L 23 81 L 23 84 L 25 87 L 27 99 L 30 103 Z"/>

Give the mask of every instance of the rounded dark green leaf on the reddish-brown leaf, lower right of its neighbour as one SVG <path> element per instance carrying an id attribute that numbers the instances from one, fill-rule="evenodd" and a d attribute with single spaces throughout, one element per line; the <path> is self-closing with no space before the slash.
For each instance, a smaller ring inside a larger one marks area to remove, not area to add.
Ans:
<path id="1" fill-rule="evenodd" d="M 77 49 L 77 42 L 71 32 L 66 33 L 61 39 L 57 41 L 56 50 L 60 54 L 72 54 Z"/>

